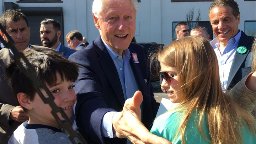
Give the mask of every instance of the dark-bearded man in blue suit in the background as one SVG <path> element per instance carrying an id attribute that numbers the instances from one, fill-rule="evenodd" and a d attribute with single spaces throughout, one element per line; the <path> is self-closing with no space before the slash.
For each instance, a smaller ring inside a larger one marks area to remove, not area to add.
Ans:
<path id="1" fill-rule="evenodd" d="M 60 34 L 60 24 L 58 21 L 49 18 L 41 21 L 40 38 L 43 46 L 55 49 L 65 58 L 68 58 L 76 50 L 63 46 L 59 41 Z"/>

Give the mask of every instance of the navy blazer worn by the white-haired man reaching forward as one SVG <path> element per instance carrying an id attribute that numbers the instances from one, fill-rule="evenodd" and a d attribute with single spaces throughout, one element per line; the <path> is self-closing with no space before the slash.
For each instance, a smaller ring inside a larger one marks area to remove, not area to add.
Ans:
<path id="1" fill-rule="evenodd" d="M 150 129 L 159 103 L 153 95 L 146 50 L 135 43 L 130 43 L 130 53 L 137 53 L 139 63 L 130 58 L 135 79 L 143 94 L 142 122 Z M 98 36 L 86 49 L 79 50 L 69 57 L 80 65 L 79 78 L 75 82 L 77 104 L 75 107 L 76 124 L 102 144 L 126 143 L 126 139 L 106 138 L 101 135 L 101 122 L 105 113 L 122 111 L 124 94 L 114 62 Z M 147 82 L 145 82 L 147 81 Z"/>

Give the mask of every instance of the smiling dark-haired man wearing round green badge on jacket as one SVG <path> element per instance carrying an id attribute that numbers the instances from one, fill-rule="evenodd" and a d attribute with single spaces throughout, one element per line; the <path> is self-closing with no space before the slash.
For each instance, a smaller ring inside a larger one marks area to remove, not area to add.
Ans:
<path id="1" fill-rule="evenodd" d="M 251 72 L 253 37 L 238 29 L 240 12 L 234 0 L 214 0 L 208 16 L 216 36 L 210 43 L 218 58 L 220 81 L 229 90 Z"/>

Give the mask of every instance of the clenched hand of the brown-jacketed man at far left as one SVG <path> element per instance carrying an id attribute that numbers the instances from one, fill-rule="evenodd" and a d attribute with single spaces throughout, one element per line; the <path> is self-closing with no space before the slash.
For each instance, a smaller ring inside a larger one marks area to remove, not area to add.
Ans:
<path id="1" fill-rule="evenodd" d="M 21 106 L 16 106 L 12 109 L 10 118 L 17 122 L 25 122 L 28 120 L 28 116 L 26 116 Z"/>

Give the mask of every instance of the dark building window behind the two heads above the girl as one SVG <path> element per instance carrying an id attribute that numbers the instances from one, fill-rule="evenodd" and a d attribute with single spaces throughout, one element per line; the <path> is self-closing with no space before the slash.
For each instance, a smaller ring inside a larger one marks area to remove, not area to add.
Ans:
<path id="1" fill-rule="evenodd" d="M 178 24 L 179 22 L 172 22 L 172 39 L 175 40 L 177 39 L 177 35 L 175 32 L 175 26 Z M 193 27 L 195 26 L 204 26 L 206 27 L 208 34 L 210 35 L 210 41 L 213 39 L 213 31 L 212 31 L 212 26 L 210 25 L 209 21 L 200 21 L 200 22 L 191 22 L 191 27 L 188 27 L 190 30 L 193 29 Z"/>

